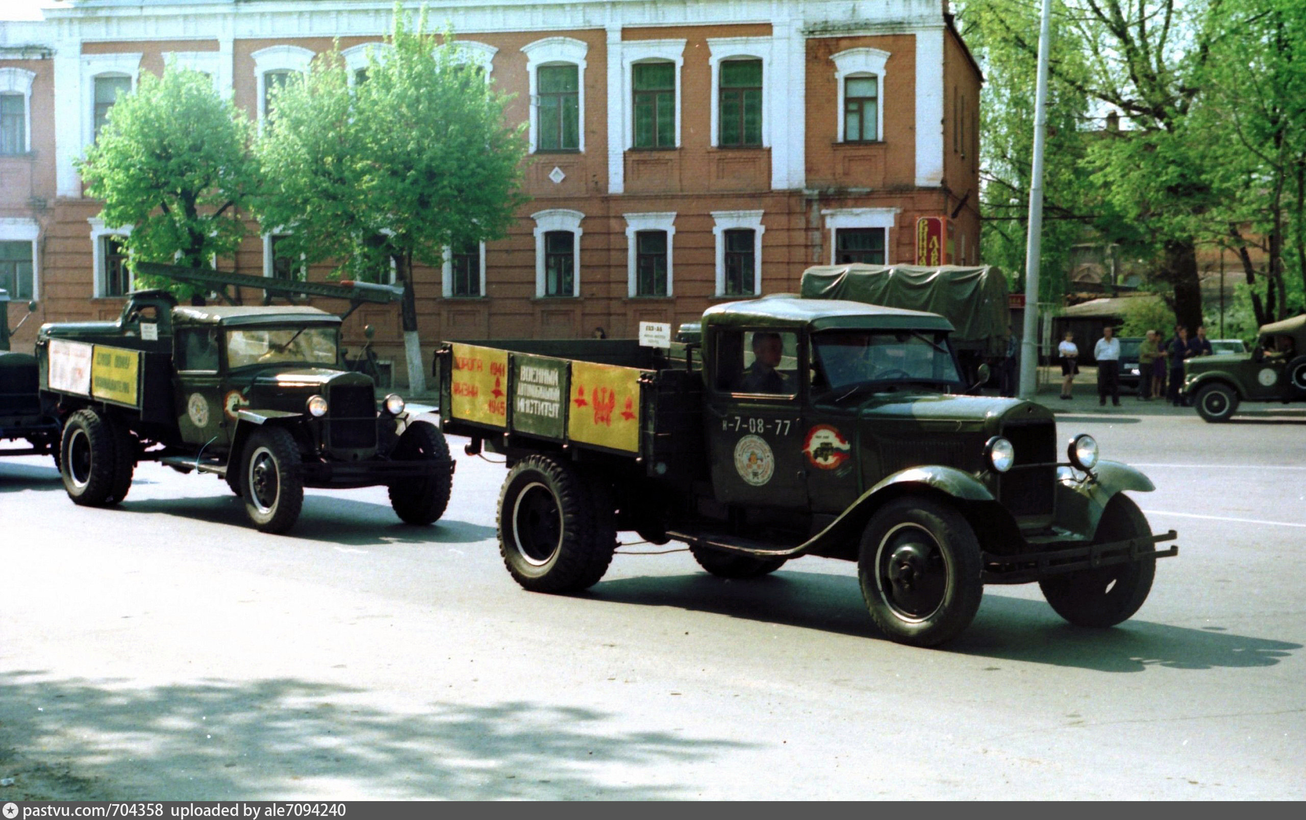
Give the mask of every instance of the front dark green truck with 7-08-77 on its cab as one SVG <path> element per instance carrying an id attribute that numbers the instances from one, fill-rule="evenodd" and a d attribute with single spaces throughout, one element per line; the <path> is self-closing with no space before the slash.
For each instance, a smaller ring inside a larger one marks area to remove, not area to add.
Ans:
<path id="1" fill-rule="evenodd" d="M 934 645 L 985 584 L 1038 582 L 1075 624 L 1130 618 L 1156 559 L 1098 458 L 1027 401 L 966 396 L 942 316 L 765 296 L 703 316 L 701 343 L 478 341 L 438 354 L 441 426 L 507 457 L 499 548 L 524 588 L 596 584 L 616 533 L 688 544 L 750 578 L 804 555 L 857 561 L 876 624 Z"/>

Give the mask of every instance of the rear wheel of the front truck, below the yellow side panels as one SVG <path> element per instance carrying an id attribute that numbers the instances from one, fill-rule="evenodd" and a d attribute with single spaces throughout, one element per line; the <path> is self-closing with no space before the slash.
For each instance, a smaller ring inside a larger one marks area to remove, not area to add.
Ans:
<path id="1" fill-rule="evenodd" d="M 499 554 L 509 575 L 537 593 L 598 584 L 616 548 L 611 484 L 550 456 L 518 461 L 499 492 Z"/>

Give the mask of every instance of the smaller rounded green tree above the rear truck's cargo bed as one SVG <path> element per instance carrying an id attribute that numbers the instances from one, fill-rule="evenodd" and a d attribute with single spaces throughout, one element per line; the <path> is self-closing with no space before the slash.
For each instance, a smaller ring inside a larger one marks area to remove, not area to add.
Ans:
<path id="1" fill-rule="evenodd" d="M 246 234 L 238 212 L 256 180 L 251 141 L 249 118 L 208 74 L 168 64 L 118 99 L 77 170 L 86 193 L 104 200 L 104 225 L 132 226 L 132 260 L 209 268 Z M 141 281 L 183 298 L 204 290 Z"/>

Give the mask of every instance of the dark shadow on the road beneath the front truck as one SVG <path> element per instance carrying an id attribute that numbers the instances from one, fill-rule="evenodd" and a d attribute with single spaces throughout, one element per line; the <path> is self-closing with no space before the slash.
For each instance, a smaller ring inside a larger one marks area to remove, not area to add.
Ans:
<path id="1" fill-rule="evenodd" d="M 752 581 L 722 581 L 705 573 L 636 577 L 602 582 L 589 597 L 887 640 L 871 623 L 857 578 L 850 576 L 781 571 Z M 1138 618 L 1113 629 L 1081 629 L 1067 624 L 1042 601 L 1012 598 L 990 588 L 974 623 L 940 649 L 1104 672 L 1140 672 L 1149 666 L 1273 666 L 1302 648 L 1217 629 Z"/>

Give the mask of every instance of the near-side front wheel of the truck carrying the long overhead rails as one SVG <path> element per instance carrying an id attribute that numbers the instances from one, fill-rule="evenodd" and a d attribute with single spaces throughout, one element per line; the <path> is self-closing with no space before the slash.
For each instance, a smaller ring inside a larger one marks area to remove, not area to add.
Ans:
<path id="1" fill-rule="evenodd" d="M 263 533 L 285 533 L 304 505 L 295 437 L 282 427 L 260 427 L 249 436 L 240 460 L 246 514 Z"/>

